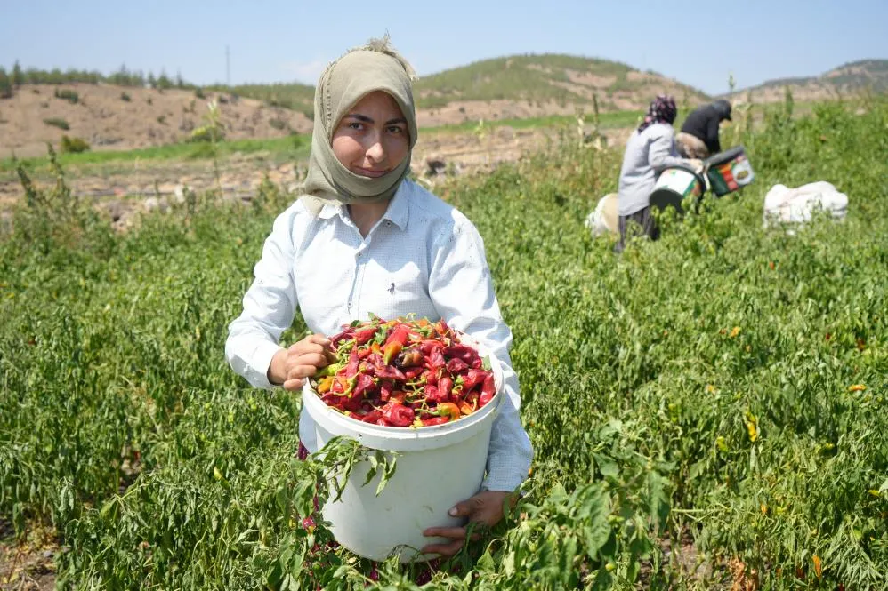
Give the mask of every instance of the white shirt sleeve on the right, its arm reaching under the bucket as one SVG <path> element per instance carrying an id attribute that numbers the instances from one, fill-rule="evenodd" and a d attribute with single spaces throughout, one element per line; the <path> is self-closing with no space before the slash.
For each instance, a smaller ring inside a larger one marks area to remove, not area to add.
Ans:
<path id="1" fill-rule="evenodd" d="M 440 238 L 435 250 L 429 292 L 440 316 L 478 339 L 502 366 L 506 396 L 491 431 L 481 488 L 514 491 L 527 478 L 533 449 L 518 412 L 518 375 L 509 356 L 512 331 L 500 314 L 481 237 L 469 220 L 455 215 L 453 231 Z"/>

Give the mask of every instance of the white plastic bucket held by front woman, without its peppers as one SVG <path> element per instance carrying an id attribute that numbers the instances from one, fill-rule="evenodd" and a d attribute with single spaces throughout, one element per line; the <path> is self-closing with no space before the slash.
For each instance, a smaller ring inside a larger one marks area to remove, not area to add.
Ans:
<path id="1" fill-rule="evenodd" d="M 448 510 L 479 491 L 490 431 L 505 397 L 503 371 L 495 357 L 488 358 L 496 382 L 493 399 L 468 416 L 432 427 L 383 427 L 350 419 L 323 403 L 306 382 L 303 411 L 314 419 L 319 448 L 336 435 L 347 435 L 365 447 L 398 453 L 395 474 L 378 497 L 382 475 L 364 486 L 369 466 L 362 462 L 351 471 L 342 497 L 324 505 L 324 519 L 337 542 L 371 560 L 397 554 L 406 563 L 428 557 L 419 554 L 426 544 L 448 541 L 426 538 L 426 528 L 464 524 Z"/>

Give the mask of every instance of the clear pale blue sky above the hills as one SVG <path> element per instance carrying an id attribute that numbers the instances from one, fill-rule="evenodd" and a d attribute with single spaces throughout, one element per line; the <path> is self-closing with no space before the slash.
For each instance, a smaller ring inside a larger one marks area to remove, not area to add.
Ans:
<path id="1" fill-rule="evenodd" d="M 329 60 L 386 31 L 428 75 L 514 53 L 652 69 L 712 94 L 888 58 L 888 0 L 0 0 L 0 64 L 177 71 L 196 84 L 316 84 Z"/>

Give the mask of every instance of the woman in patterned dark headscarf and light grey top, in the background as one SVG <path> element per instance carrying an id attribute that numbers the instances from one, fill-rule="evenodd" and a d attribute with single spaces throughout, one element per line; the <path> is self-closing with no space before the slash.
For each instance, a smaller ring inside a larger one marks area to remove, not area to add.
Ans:
<path id="1" fill-rule="evenodd" d="M 650 211 L 650 193 L 664 169 L 690 166 L 698 170 L 699 160 L 678 156 L 672 123 L 678 109 L 670 96 L 659 95 L 650 103 L 647 116 L 626 144 L 619 179 L 619 233 L 614 250 L 623 252 L 629 237 L 643 235 L 657 240 L 659 230 Z"/>

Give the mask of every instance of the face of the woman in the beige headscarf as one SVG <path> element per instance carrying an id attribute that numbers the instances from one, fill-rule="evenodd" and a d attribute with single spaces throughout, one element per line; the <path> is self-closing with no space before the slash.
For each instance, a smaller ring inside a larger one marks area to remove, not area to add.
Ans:
<path id="1" fill-rule="evenodd" d="M 333 132 L 333 153 L 362 177 L 381 177 L 410 151 L 407 119 L 392 95 L 374 91 L 343 116 Z"/>

